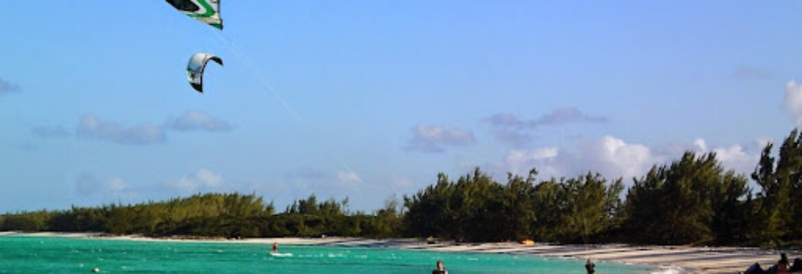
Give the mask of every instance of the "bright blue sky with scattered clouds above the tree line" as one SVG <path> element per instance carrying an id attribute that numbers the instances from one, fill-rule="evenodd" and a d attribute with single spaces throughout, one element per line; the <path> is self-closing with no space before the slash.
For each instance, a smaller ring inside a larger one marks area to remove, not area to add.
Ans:
<path id="1" fill-rule="evenodd" d="M 372 210 L 440 171 L 631 177 L 684 150 L 748 172 L 802 121 L 802 2 L 224 0 L 221 32 L 160 0 L 4 7 L 0 211 Z M 203 95 L 195 52 L 225 62 Z"/>

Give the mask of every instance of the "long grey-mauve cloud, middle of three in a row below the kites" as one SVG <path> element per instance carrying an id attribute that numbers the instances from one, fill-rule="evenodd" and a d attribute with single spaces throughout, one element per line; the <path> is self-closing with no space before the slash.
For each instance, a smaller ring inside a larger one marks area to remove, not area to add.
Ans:
<path id="1" fill-rule="evenodd" d="M 140 123 L 132 127 L 124 127 L 119 123 L 103 121 L 98 116 L 91 114 L 81 117 L 78 135 L 133 145 L 164 143 L 167 139 L 167 135 L 164 134 L 161 127 L 151 123 Z"/>

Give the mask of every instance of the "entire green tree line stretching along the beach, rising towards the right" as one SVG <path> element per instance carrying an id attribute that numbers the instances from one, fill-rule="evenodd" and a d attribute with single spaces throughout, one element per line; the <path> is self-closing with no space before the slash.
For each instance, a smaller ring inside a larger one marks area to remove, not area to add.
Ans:
<path id="1" fill-rule="evenodd" d="M 349 212 L 348 200 L 313 194 L 284 212 L 251 194 L 197 194 L 168 201 L 73 207 L 0 215 L 0 230 L 107 232 L 146 236 L 436 237 L 484 242 L 802 246 L 802 135 L 774 153 L 763 148 L 749 177 L 726 170 L 715 153 L 685 152 L 646 175 L 606 179 L 588 172 L 497 182 L 476 168 L 388 199 L 375 212 Z M 756 187 L 750 187 L 754 182 Z M 626 191 L 626 192 L 625 192 Z"/>

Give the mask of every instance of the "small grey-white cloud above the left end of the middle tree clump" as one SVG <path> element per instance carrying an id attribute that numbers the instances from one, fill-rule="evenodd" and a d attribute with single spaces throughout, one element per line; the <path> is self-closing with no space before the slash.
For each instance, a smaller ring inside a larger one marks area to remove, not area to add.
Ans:
<path id="1" fill-rule="evenodd" d="M 476 143 L 473 133 L 458 128 L 418 125 L 412 127 L 412 134 L 412 139 L 404 147 L 407 151 L 441 153 L 445 151 L 445 146 L 465 146 Z"/>

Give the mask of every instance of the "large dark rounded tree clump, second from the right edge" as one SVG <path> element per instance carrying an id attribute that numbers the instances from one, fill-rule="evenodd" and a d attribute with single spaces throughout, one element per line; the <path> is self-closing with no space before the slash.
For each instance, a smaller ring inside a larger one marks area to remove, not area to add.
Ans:
<path id="1" fill-rule="evenodd" d="M 626 199 L 629 235 L 653 244 L 715 242 L 714 228 L 726 229 L 731 217 L 723 206 L 737 203 L 745 184 L 743 176 L 725 174 L 715 154 L 686 152 L 635 179 Z"/>

